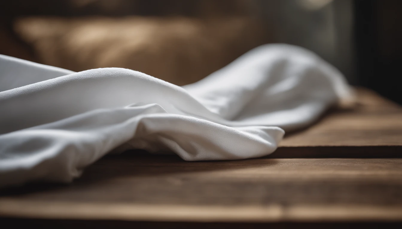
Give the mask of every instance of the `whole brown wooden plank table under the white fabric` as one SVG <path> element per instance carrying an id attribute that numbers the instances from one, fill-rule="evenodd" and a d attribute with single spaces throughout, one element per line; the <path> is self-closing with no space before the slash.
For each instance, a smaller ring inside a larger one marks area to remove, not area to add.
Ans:
<path id="1" fill-rule="evenodd" d="M 2 190 L 0 216 L 57 227 L 400 227 L 402 108 L 358 95 L 267 157 L 107 156 L 69 185 Z"/>

